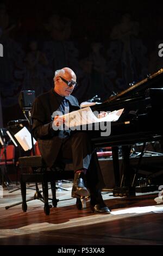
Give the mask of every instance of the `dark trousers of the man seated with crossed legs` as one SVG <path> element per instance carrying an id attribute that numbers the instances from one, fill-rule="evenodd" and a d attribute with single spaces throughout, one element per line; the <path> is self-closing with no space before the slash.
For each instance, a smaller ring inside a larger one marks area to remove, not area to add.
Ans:
<path id="1" fill-rule="evenodd" d="M 74 172 L 86 168 L 89 188 L 101 189 L 104 187 L 96 149 L 86 131 L 74 131 L 69 138 L 65 138 L 61 145 L 59 158 L 72 160 Z"/>

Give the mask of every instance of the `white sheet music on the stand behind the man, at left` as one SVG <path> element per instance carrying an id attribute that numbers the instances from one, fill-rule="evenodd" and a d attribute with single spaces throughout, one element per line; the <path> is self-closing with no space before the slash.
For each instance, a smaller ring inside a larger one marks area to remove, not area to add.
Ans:
<path id="1" fill-rule="evenodd" d="M 18 143 L 20 143 L 24 151 L 32 149 L 31 134 L 25 126 L 20 131 L 18 131 L 14 136 L 17 139 Z M 36 140 L 34 138 L 33 142 L 34 144 L 36 143 Z"/>

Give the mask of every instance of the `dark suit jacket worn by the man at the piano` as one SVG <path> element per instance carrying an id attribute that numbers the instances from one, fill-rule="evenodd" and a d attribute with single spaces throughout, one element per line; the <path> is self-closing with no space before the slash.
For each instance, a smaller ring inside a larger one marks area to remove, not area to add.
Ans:
<path id="1" fill-rule="evenodd" d="M 65 97 L 70 106 L 70 112 L 79 109 L 76 97 L 70 95 Z M 47 166 L 52 167 L 60 150 L 63 137 L 60 131 L 54 131 L 52 128 L 52 114 L 60 106 L 63 97 L 57 97 L 54 90 L 38 96 L 31 111 L 33 119 L 32 132 L 38 141 L 40 153 Z"/>

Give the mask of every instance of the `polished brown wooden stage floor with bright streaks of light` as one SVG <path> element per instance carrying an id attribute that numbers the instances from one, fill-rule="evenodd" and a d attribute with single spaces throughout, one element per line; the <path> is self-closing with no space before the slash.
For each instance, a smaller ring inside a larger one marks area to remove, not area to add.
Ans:
<path id="1" fill-rule="evenodd" d="M 67 191 L 57 191 L 60 201 L 49 216 L 38 199 L 27 203 L 25 213 L 21 205 L 6 210 L 5 206 L 21 201 L 21 191 L 5 189 L 0 199 L 0 245 L 163 245 L 163 201 L 154 200 L 159 191 L 131 198 L 102 192 L 111 214 L 97 215 L 90 211 L 89 201 L 86 209 L 76 208 L 71 186 L 62 184 Z M 27 198 L 33 195 L 34 190 L 28 189 Z M 145 206 L 153 206 L 152 211 Z"/>

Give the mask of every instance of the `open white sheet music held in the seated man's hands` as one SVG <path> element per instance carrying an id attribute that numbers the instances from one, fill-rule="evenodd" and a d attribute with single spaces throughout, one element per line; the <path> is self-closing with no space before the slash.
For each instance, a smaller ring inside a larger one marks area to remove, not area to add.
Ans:
<path id="1" fill-rule="evenodd" d="M 86 124 L 117 121 L 118 118 L 120 118 L 123 109 L 124 108 L 118 109 L 117 111 L 112 111 L 106 115 L 106 117 L 97 118 L 96 115 L 93 114 L 90 107 L 85 107 L 79 109 L 78 111 L 73 111 L 62 115 L 62 117 L 65 118 L 65 126 L 71 128 Z"/>

